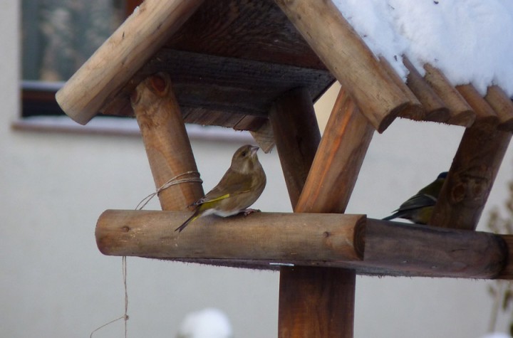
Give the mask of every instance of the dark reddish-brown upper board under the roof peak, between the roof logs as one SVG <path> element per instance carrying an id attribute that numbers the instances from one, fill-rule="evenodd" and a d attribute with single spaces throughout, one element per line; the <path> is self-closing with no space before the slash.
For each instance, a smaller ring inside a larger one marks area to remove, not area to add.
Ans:
<path id="1" fill-rule="evenodd" d="M 165 47 L 326 70 L 273 0 L 205 1 Z"/>

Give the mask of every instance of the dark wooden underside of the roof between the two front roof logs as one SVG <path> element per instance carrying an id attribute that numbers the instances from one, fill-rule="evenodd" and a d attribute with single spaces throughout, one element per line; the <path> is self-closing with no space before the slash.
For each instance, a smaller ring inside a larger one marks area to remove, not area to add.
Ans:
<path id="1" fill-rule="evenodd" d="M 315 101 L 335 81 L 271 0 L 204 1 L 100 112 L 133 115 L 130 93 L 157 72 L 170 74 L 185 122 L 236 130 L 258 130 L 287 90 Z"/>

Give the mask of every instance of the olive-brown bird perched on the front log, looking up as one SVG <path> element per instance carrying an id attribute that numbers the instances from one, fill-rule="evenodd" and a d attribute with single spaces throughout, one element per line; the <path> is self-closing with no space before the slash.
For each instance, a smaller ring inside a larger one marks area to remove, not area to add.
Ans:
<path id="1" fill-rule="evenodd" d="M 266 185 L 266 175 L 257 157 L 258 149 L 250 144 L 237 149 L 232 164 L 219 184 L 191 205 L 196 207 L 195 212 L 175 231 L 182 231 L 202 216 L 214 214 L 228 217 L 242 212 L 248 215 L 255 211 L 247 208 L 257 201 Z"/>

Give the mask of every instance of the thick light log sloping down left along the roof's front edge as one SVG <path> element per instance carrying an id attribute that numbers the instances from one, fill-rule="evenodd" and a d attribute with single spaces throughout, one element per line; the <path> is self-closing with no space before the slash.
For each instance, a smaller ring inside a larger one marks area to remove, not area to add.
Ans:
<path id="1" fill-rule="evenodd" d="M 57 92 L 63 111 L 81 125 L 89 122 L 202 2 L 146 0 Z"/>

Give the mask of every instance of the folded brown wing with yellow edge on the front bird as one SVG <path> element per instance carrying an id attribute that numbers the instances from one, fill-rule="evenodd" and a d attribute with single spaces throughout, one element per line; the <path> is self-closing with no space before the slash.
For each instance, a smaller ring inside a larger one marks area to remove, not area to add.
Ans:
<path id="1" fill-rule="evenodd" d="M 221 181 L 219 181 L 219 184 L 214 186 L 214 189 L 209 191 L 202 199 L 199 199 L 195 205 L 220 201 L 251 191 L 253 187 L 252 184 L 253 180 L 251 175 L 240 174 L 228 169 L 227 173 L 224 174 Z"/>

